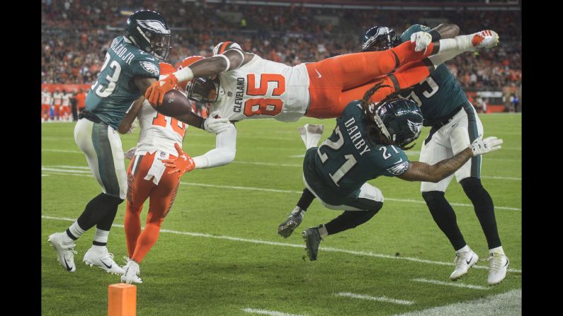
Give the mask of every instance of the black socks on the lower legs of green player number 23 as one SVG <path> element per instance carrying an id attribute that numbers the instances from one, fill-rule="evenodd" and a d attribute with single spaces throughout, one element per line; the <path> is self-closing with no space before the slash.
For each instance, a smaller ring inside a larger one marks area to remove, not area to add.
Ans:
<path id="1" fill-rule="evenodd" d="M 84 230 L 89 230 L 94 225 L 102 221 L 103 218 L 106 218 L 108 213 L 113 213 L 111 220 L 113 223 L 117 207 L 121 202 L 123 202 L 123 199 L 118 197 L 111 197 L 105 193 L 98 194 L 97 197 L 94 197 L 91 201 L 89 201 L 86 205 L 86 209 L 84 209 L 84 212 L 80 214 L 80 217 L 77 220 L 79 226 Z M 111 227 L 111 223 L 109 226 Z"/>

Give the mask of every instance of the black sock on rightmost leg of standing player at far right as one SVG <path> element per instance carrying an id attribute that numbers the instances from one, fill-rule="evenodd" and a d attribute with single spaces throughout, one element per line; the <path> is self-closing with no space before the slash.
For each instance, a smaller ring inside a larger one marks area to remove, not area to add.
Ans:
<path id="1" fill-rule="evenodd" d="M 501 247 L 501 238 L 499 238 L 499 230 L 496 228 L 496 219 L 494 216 L 493 199 L 489 192 L 481 184 L 481 180 L 477 177 L 467 177 L 461 180 L 463 191 L 470 198 L 475 215 L 479 218 L 489 249 Z"/>

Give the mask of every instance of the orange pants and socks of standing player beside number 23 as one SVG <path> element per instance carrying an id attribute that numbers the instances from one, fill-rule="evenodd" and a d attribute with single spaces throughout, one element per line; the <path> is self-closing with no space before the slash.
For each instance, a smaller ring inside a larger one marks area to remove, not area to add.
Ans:
<path id="1" fill-rule="evenodd" d="M 127 206 L 125 211 L 125 240 L 127 242 L 127 254 L 136 262 L 140 263 L 149 253 L 152 246 L 159 239 L 160 226 L 166 214 L 170 211 L 176 192 L 180 185 L 178 173 L 164 174 L 160 178 L 159 185 L 151 180 L 144 180 L 151 168 L 155 153 L 147 153 L 144 156 L 135 156 L 129 163 L 127 169 Z M 170 156 L 169 159 L 174 159 Z M 135 164 L 135 161 L 137 163 Z M 140 215 L 144 201 L 149 200 L 149 213 L 147 223 L 141 232 Z"/>

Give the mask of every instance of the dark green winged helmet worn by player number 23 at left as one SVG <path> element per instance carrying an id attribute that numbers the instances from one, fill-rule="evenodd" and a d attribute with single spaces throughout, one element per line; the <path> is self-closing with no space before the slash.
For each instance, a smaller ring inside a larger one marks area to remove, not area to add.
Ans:
<path id="1" fill-rule="evenodd" d="M 166 61 L 170 55 L 170 28 L 160 13 L 141 10 L 127 18 L 125 37 L 140 49 Z"/>

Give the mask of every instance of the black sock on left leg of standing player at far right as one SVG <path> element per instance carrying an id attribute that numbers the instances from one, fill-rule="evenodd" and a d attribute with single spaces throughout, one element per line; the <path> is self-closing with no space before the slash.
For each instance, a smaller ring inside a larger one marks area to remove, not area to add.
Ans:
<path id="1" fill-rule="evenodd" d="M 444 192 L 431 191 L 422 192 L 422 197 L 426 201 L 426 206 L 432 214 L 432 218 L 444 235 L 450 240 L 454 250 L 460 250 L 467 245 L 459 226 L 452 206 L 444 197 Z"/>

